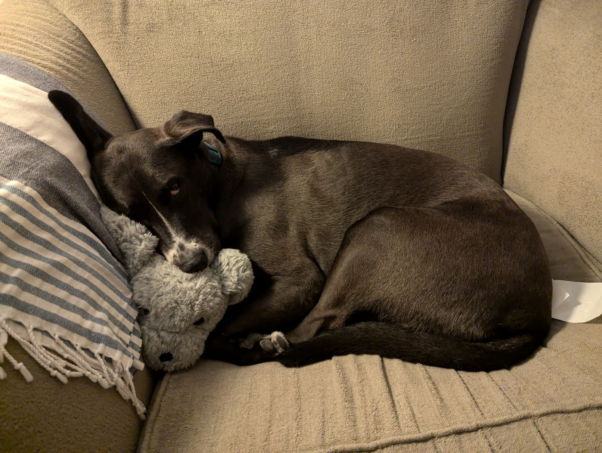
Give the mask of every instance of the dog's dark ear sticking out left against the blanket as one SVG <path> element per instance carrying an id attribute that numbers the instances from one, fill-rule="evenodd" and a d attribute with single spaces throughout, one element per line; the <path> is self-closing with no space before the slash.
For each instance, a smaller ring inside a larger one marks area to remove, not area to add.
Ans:
<path id="1" fill-rule="evenodd" d="M 92 162 L 96 154 L 105 149 L 107 142 L 113 136 L 90 118 L 79 102 L 69 93 L 52 90 L 48 93 L 48 99 L 60 111 L 79 141 L 83 143 L 88 160 Z"/>

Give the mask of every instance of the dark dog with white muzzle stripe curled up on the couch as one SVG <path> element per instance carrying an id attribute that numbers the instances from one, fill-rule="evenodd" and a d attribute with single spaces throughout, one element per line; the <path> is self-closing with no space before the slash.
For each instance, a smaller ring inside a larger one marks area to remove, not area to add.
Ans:
<path id="1" fill-rule="evenodd" d="M 157 234 L 167 260 L 194 272 L 222 246 L 249 255 L 252 292 L 229 308 L 208 357 L 299 366 L 379 354 L 492 370 L 548 333 L 551 276 L 535 226 L 458 161 L 376 143 L 225 138 L 187 111 L 113 137 L 66 93 L 49 99 L 87 149 L 104 202 Z M 275 330 L 285 336 L 263 335 Z"/>

